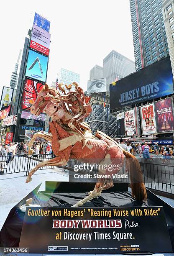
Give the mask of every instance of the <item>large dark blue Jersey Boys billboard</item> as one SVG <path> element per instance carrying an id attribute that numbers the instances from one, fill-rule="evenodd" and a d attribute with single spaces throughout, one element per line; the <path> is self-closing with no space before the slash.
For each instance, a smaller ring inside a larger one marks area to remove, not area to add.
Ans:
<path id="1" fill-rule="evenodd" d="M 173 75 L 168 57 L 110 84 L 110 108 L 120 108 L 173 93 Z"/>

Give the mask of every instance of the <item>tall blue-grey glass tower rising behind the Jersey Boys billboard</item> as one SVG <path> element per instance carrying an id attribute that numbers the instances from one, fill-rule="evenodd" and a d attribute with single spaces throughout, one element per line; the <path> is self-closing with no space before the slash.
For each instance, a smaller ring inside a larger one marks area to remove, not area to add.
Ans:
<path id="1" fill-rule="evenodd" d="M 169 55 L 162 0 L 130 0 L 136 71 Z"/>

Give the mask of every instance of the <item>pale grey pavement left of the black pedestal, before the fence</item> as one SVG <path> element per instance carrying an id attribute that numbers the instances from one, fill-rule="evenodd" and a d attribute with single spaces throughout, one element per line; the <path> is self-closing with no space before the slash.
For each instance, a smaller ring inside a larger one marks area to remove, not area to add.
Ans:
<path id="1" fill-rule="evenodd" d="M 42 183 L 39 190 L 45 190 L 45 181 L 69 182 L 69 171 L 64 171 L 64 168 L 38 170 L 29 183 L 26 183 L 25 174 L 20 172 L 0 175 L 0 230 L 11 208 L 39 184 Z"/>

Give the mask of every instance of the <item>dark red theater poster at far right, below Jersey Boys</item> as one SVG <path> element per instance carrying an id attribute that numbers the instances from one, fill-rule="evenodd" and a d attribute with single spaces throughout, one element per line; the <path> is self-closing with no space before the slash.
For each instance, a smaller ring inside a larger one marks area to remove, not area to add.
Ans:
<path id="1" fill-rule="evenodd" d="M 156 124 L 159 133 L 171 132 L 174 129 L 174 113 L 171 97 L 155 102 Z"/>

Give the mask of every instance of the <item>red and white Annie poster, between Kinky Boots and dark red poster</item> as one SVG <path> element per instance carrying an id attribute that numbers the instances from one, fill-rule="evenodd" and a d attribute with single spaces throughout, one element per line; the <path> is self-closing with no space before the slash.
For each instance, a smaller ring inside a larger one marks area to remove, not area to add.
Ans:
<path id="1" fill-rule="evenodd" d="M 157 132 L 154 103 L 141 107 L 141 126 L 143 134 L 153 134 Z"/>

